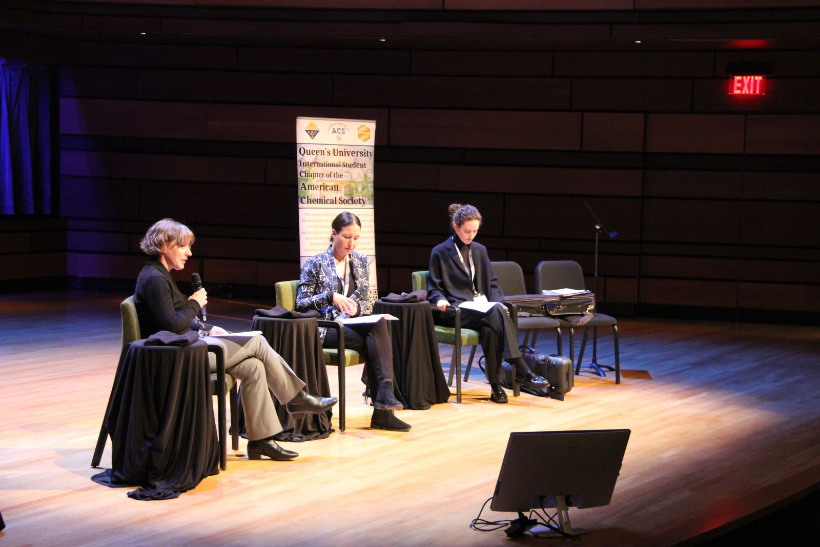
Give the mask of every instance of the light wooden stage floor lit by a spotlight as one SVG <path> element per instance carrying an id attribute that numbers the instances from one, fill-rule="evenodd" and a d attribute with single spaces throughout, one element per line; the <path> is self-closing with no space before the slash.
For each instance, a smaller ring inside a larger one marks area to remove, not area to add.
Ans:
<path id="1" fill-rule="evenodd" d="M 479 372 L 462 404 L 402 411 L 413 429 L 396 433 L 367 427 L 362 370 L 349 367 L 344 433 L 286 444 L 301 454 L 290 463 L 248 461 L 241 440 L 226 472 L 178 499 L 136 501 L 89 480 L 124 296 L 0 296 L 3 547 L 503 545 L 503 531 L 469 524 L 492 495 L 510 431 L 631 429 L 612 504 L 570 510 L 590 529 L 581 545 L 695 544 L 820 483 L 820 329 L 627 319 L 621 385 L 582 374 L 563 402 L 524 394 L 499 405 Z M 244 330 L 270 305 L 208 308 L 221 314 L 213 322 Z M 540 349 L 552 352 L 553 340 L 542 335 Z M 604 330 L 600 362 L 612 362 L 611 340 Z"/>

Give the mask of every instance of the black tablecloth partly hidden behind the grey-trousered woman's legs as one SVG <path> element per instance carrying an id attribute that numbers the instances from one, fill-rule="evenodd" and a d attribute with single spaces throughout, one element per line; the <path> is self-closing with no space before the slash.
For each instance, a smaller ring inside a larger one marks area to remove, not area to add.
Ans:
<path id="1" fill-rule="evenodd" d="M 305 383 L 305 391 L 312 395 L 330 397 L 327 381 L 325 357 L 321 351 L 321 339 L 316 317 L 305 319 L 280 319 L 278 317 L 253 317 L 251 330 L 262 330 L 262 336 L 271 344 L 276 353 L 294 370 L 296 376 Z M 273 397 L 273 394 L 271 394 Z M 333 427 L 330 425 L 332 410 L 321 414 L 304 414 L 294 418 L 273 397 L 276 414 L 282 424 L 282 431 L 276 440 L 301 442 L 303 440 L 326 439 Z M 240 421 L 244 419 L 240 418 Z"/>

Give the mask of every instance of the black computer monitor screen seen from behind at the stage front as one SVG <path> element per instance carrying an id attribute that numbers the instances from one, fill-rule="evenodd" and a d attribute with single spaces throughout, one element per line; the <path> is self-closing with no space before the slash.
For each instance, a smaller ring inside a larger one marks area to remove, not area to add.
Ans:
<path id="1" fill-rule="evenodd" d="M 490 508 L 586 508 L 609 504 L 630 430 L 512 432 Z"/>

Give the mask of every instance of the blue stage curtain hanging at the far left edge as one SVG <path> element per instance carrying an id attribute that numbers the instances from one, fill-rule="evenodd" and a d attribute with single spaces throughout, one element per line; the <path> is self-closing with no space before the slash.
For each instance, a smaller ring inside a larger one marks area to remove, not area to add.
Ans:
<path id="1" fill-rule="evenodd" d="M 48 71 L 0 58 L 0 214 L 52 212 Z"/>

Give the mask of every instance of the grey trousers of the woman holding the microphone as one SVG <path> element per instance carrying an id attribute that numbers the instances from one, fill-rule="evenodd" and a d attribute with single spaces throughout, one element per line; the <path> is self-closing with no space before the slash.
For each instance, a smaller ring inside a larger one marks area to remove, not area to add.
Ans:
<path id="1" fill-rule="evenodd" d="M 268 388 L 280 403 L 285 404 L 305 386 L 285 359 L 262 335 L 205 336 L 203 340 L 222 347 L 225 372 L 242 382 L 242 408 L 248 440 L 266 439 L 282 431 Z M 216 371 L 216 356 L 208 353 L 208 360 L 211 371 Z"/>

